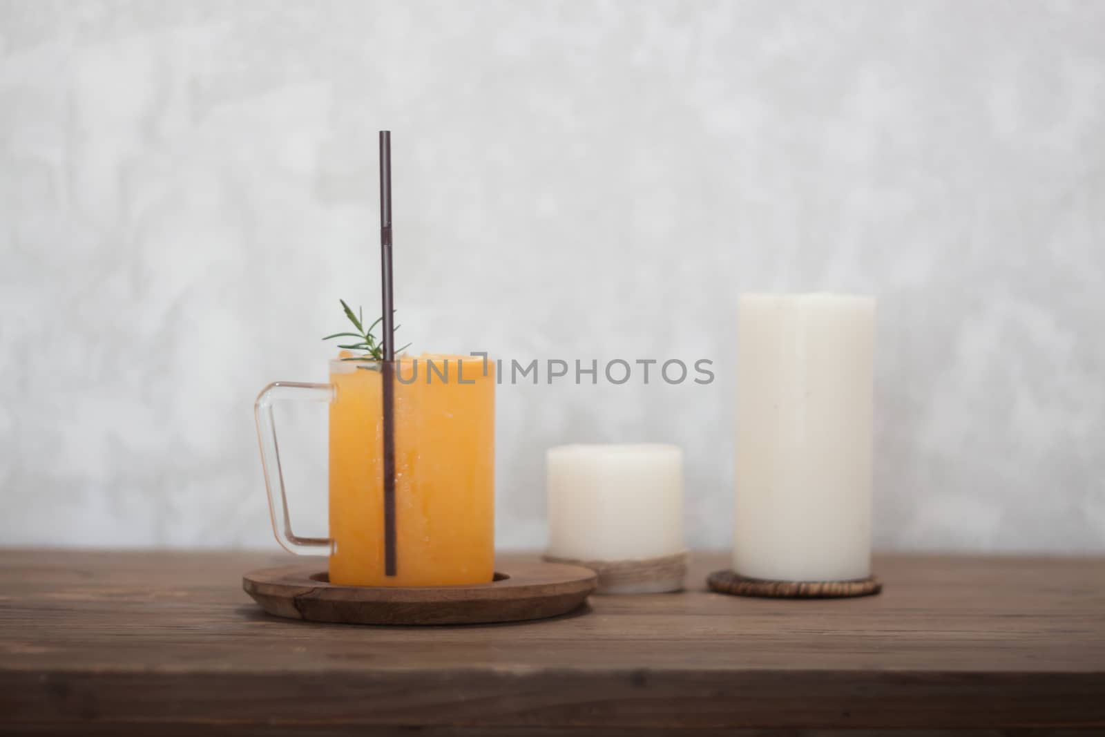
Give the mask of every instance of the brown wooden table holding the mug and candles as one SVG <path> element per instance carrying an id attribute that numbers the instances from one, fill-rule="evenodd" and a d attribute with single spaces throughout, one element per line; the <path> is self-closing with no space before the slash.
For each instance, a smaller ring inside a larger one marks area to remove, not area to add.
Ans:
<path id="1" fill-rule="evenodd" d="M 241 575 L 288 559 L 0 551 L 0 731 L 1105 734 L 1101 559 L 882 557 L 881 596 L 778 601 L 697 555 L 686 593 L 424 629 L 263 614 Z"/>

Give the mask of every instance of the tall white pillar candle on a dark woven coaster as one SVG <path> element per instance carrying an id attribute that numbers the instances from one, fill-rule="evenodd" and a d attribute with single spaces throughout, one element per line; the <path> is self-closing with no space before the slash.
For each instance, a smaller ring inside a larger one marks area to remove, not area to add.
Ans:
<path id="1" fill-rule="evenodd" d="M 871 575 L 874 312 L 859 296 L 740 298 L 737 573 Z"/>

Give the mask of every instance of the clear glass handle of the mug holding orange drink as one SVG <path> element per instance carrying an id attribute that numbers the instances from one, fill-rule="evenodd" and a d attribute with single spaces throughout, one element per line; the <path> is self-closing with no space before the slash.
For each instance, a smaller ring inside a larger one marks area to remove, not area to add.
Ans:
<path id="1" fill-rule="evenodd" d="M 282 401 L 330 402 L 335 387 L 332 383 L 299 383 L 276 381 L 257 394 L 253 404 L 253 415 L 257 420 L 257 440 L 261 443 L 261 466 L 265 472 L 265 488 L 269 491 L 269 514 L 273 519 L 276 541 L 288 552 L 301 556 L 326 554 L 330 550 L 328 537 L 299 537 L 292 531 L 292 518 L 287 513 L 287 495 L 284 493 L 284 473 L 280 467 L 280 448 L 276 445 L 276 423 L 273 404 Z M 283 528 L 276 519 L 276 509 L 284 516 Z"/>

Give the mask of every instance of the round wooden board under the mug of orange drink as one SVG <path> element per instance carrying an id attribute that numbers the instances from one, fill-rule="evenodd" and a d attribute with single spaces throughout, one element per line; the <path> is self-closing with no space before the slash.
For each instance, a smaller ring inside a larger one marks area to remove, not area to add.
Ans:
<path id="1" fill-rule="evenodd" d="M 338 586 L 318 562 L 262 568 L 242 588 L 270 614 L 345 624 L 475 624 L 565 614 L 594 590 L 587 568 L 512 561 L 491 583 Z"/>

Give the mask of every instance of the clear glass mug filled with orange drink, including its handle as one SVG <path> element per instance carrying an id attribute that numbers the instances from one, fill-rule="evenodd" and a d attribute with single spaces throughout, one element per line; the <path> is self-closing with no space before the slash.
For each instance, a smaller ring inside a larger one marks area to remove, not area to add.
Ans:
<path id="1" fill-rule="evenodd" d="M 329 552 L 349 586 L 485 583 L 495 558 L 495 362 L 433 356 L 393 362 L 396 568 L 385 570 L 383 373 L 380 361 L 333 360 L 329 383 L 271 383 L 254 406 L 276 540 Z M 329 537 L 292 531 L 273 404 L 330 404 Z"/>

